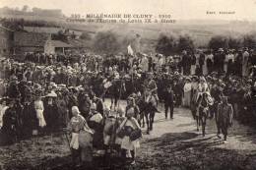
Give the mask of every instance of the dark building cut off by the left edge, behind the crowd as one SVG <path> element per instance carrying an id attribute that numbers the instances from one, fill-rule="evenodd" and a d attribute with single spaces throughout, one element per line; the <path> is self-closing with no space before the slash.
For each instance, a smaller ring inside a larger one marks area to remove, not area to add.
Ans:
<path id="1" fill-rule="evenodd" d="M 13 53 L 14 31 L 0 26 L 0 56 L 8 56 Z"/>

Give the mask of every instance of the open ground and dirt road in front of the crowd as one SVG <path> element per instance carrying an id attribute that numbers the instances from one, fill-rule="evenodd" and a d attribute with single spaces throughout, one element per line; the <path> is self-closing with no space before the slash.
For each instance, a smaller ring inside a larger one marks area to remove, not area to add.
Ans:
<path id="1" fill-rule="evenodd" d="M 161 105 L 160 110 L 163 110 Z M 235 121 L 227 143 L 223 143 L 216 137 L 215 121 L 208 120 L 206 132 L 203 138 L 201 132 L 196 131 L 188 109 L 175 108 L 173 120 L 165 120 L 164 114 L 158 113 L 151 135 L 144 134 L 136 165 L 125 169 L 256 169 L 255 130 Z M 68 142 L 61 134 L 1 146 L 0 152 L 2 169 L 71 168 Z"/>

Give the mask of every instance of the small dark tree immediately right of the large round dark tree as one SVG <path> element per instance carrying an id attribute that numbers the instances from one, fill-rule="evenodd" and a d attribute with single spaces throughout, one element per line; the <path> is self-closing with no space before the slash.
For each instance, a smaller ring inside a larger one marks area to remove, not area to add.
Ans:
<path id="1" fill-rule="evenodd" d="M 178 52 L 181 52 L 183 50 L 194 51 L 195 49 L 194 42 L 189 35 L 179 36 L 177 46 Z"/>

